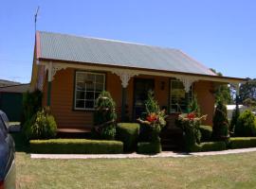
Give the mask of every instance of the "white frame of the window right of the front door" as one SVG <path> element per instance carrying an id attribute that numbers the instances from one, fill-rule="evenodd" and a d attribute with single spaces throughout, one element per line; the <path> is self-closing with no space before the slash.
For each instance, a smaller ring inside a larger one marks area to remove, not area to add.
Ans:
<path id="1" fill-rule="evenodd" d="M 170 78 L 170 83 L 169 83 L 169 113 L 172 114 L 172 113 L 183 113 L 184 110 L 181 109 L 182 112 L 179 112 L 177 109 L 172 112 L 172 85 L 173 85 L 173 81 L 179 81 L 182 83 L 182 81 L 180 81 L 179 79 L 176 79 L 176 78 Z M 182 86 L 183 86 L 183 89 L 185 91 L 185 87 L 184 87 L 184 84 L 182 83 Z M 185 91 L 185 94 L 186 94 L 186 91 Z M 194 83 L 192 83 L 192 86 L 191 86 L 191 89 L 190 89 L 190 92 L 189 92 L 189 101 L 191 102 L 192 101 L 192 97 L 194 95 Z M 181 108 L 181 107 L 180 107 Z"/>

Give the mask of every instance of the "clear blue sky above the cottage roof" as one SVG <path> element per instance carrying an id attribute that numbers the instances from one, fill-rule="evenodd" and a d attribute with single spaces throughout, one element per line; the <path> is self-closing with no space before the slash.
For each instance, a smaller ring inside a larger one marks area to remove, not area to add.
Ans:
<path id="1" fill-rule="evenodd" d="M 177 48 L 256 77 L 255 0 L 0 0 L 0 79 L 30 81 L 38 6 L 38 30 Z"/>

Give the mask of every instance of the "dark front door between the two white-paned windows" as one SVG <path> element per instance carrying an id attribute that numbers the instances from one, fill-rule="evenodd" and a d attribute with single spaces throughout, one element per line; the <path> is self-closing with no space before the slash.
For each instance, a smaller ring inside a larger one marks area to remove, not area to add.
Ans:
<path id="1" fill-rule="evenodd" d="M 148 97 L 148 91 L 155 89 L 155 80 L 152 78 L 134 79 L 134 121 L 145 112 L 145 100 Z"/>

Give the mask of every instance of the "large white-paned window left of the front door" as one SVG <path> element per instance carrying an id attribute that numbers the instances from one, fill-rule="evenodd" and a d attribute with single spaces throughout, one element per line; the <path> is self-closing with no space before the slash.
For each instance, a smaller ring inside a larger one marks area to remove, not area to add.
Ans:
<path id="1" fill-rule="evenodd" d="M 75 110 L 94 110 L 96 99 L 104 89 L 104 74 L 76 72 Z"/>

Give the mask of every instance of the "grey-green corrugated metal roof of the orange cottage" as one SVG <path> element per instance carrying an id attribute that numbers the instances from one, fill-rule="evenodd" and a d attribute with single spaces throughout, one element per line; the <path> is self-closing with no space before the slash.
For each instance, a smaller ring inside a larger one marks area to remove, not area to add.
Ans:
<path id="1" fill-rule="evenodd" d="M 39 31 L 38 59 L 68 60 L 121 67 L 215 76 L 209 68 L 183 52 L 138 43 L 78 37 Z"/>

